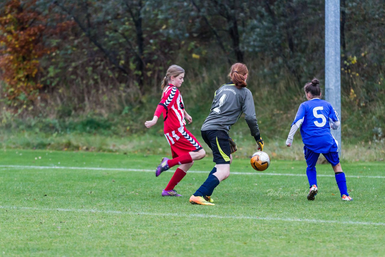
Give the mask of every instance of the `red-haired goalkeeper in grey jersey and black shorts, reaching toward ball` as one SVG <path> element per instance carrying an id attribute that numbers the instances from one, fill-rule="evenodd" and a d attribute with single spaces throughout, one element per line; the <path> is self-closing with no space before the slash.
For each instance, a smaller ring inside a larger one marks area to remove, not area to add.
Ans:
<path id="1" fill-rule="evenodd" d="M 213 151 L 213 162 L 216 164 L 208 178 L 190 197 L 190 203 L 214 205 L 211 194 L 214 188 L 230 175 L 231 153 L 236 151 L 236 144 L 229 137 L 231 126 L 236 123 L 242 113 L 245 114 L 251 136 L 263 151 L 263 140 L 259 134 L 253 95 L 246 88 L 248 69 L 242 63 L 231 66 L 228 75 L 231 82 L 224 84 L 215 92 L 209 116 L 204 121 L 201 134 L 203 140 Z"/>

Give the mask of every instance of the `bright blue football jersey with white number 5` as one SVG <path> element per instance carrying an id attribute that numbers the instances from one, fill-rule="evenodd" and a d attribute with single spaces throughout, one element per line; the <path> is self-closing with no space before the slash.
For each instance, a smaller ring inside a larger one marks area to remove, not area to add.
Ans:
<path id="1" fill-rule="evenodd" d="M 301 126 L 303 144 L 315 153 L 338 151 L 338 143 L 330 133 L 329 119 L 339 121 L 338 114 L 330 102 L 313 98 L 303 102 L 298 108 L 294 122 Z"/>

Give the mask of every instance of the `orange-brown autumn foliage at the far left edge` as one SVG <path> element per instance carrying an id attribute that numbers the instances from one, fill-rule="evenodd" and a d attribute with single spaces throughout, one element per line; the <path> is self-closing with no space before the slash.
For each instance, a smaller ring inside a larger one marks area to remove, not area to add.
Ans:
<path id="1" fill-rule="evenodd" d="M 44 37 L 65 27 L 48 28 L 47 18 L 31 8 L 35 3 L 10 0 L 0 13 L 0 80 L 5 82 L 4 96 L 14 106 L 38 96 L 39 59 L 53 50 L 45 47 Z"/>

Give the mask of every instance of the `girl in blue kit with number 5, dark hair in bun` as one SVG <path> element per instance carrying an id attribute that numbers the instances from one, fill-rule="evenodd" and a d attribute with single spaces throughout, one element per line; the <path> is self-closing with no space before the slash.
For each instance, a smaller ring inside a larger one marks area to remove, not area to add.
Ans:
<path id="1" fill-rule="evenodd" d="M 303 153 L 305 155 L 306 175 L 310 185 L 308 200 L 314 200 L 318 193 L 317 173 L 315 169 L 318 156 L 322 153 L 331 164 L 335 172 L 335 178 L 340 189 L 341 199 L 352 201 L 346 187 L 345 173 L 343 173 L 340 159 L 338 158 L 338 143 L 330 133 L 330 128 L 338 129 L 340 120 L 338 114 L 330 102 L 321 100 L 320 81 L 314 78 L 311 83 L 306 83 L 305 90 L 308 101 L 301 103 L 297 115 L 291 124 L 290 133 L 286 140 L 286 146 L 290 147 L 297 129 L 301 126 Z"/>

